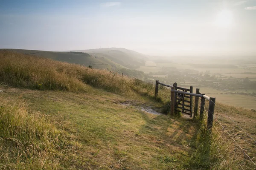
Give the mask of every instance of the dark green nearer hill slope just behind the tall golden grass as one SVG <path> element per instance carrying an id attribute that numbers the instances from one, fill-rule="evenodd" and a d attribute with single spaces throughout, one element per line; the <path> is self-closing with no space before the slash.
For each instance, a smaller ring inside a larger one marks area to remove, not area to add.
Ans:
<path id="1" fill-rule="evenodd" d="M 122 65 L 117 64 L 107 57 L 91 56 L 85 52 L 55 52 L 55 51 L 38 51 L 38 50 L 23 50 L 23 49 L 0 49 L 7 51 L 15 51 L 21 54 L 35 55 L 44 58 L 50 58 L 62 62 L 70 62 L 80 65 L 91 65 L 93 68 L 108 68 L 116 70 L 118 68 L 125 68 Z"/>

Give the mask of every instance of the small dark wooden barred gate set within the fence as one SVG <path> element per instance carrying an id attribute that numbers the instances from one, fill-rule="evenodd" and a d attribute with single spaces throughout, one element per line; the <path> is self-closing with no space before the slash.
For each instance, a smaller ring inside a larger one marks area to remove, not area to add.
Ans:
<path id="1" fill-rule="evenodd" d="M 190 89 L 177 87 L 177 83 L 173 84 L 175 90 L 184 91 L 193 93 L 193 86 L 190 86 Z M 193 96 L 189 96 L 186 94 L 175 93 L 175 109 L 176 111 L 184 114 L 188 114 L 192 117 L 192 104 L 193 104 Z"/>

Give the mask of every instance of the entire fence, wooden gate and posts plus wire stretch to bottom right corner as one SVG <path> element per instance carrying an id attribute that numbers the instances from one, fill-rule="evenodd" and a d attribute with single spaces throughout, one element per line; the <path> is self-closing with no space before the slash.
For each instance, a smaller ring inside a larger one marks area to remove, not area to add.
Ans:
<path id="1" fill-rule="evenodd" d="M 253 161 L 253 159 L 255 159 L 256 156 L 253 155 L 253 151 L 249 153 L 250 150 L 246 149 L 250 145 L 252 146 L 252 148 L 254 148 L 253 145 L 256 144 L 256 140 L 253 139 L 253 137 L 250 136 L 250 134 L 247 133 L 246 130 L 244 130 L 240 125 L 238 125 L 236 121 L 232 120 L 231 117 L 228 116 L 227 113 L 225 113 L 222 109 L 220 111 L 225 116 L 227 116 L 228 119 L 230 119 L 231 121 L 230 124 L 231 123 L 234 124 L 240 131 L 236 133 L 231 133 L 231 129 L 228 129 L 229 126 L 224 126 L 223 123 L 221 123 L 221 121 L 218 119 L 219 117 L 218 118 L 216 117 L 217 114 L 214 115 L 214 109 L 216 105 L 215 97 L 209 97 L 209 96 L 206 96 L 205 94 L 200 93 L 199 88 L 196 89 L 196 93 L 194 94 L 192 86 L 190 86 L 190 89 L 186 89 L 186 88 L 177 87 L 177 83 L 174 83 L 173 85 L 166 85 L 159 81 L 156 81 L 155 97 L 157 97 L 158 95 L 159 84 L 171 88 L 171 101 L 170 101 L 171 111 L 170 112 L 172 115 L 175 113 L 175 111 L 186 113 L 188 109 L 186 110 L 182 108 L 187 107 L 189 108 L 189 115 L 190 117 L 192 117 L 192 104 L 193 104 L 192 97 L 195 96 L 193 115 L 194 117 L 198 116 L 198 104 L 199 104 L 199 99 L 201 98 L 199 118 L 202 120 L 204 118 L 204 112 L 206 110 L 205 108 L 207 108 L 205 106 L 206 100 L 208 100 L 209 107 L 208 107 L 208 115 L 207 115 L 207 129 L 209 129 L 209 134 L 212 139 L 212 143 L 213 143 L 212 146 L 215 147 L 216 150 L 218 151 L 218 154 L 220 155 L 221 160 L 224 162 L 223 165 L 225 165 L 226 168 L 229 170 L 233 169 L 234 167 L 242 170 L 256 169 L 256 162 Z M 186 102 L 185 98 L 190 99 L 190 101 L 187 100 L 189 102 L 189 105 L 184 105 L 183 101 Z M 181 101 L 182 101 L 182 104 L 181 104 L 182 108 L 178 106 L 181 103 Z M 215 119 L 216 125 L 214 125 L 213 119 Z M 217 127 L 217 125 L 220 125 L 220 128 Z M 232 128 L 233 130 L 233 127 L 230 127 L 230 128 Z M 215 138 L 214 133 L 217 133 L 219 137 Z M 237 133 L 243 133 L 243 137 L 245 138 L 245 136 L 247 136 L 247 138 L 250 139 L 250 142 L 243 141 L 239 143 L 239 141 L 237 140 L 238 138 L 236 136 Z M 227 137 L 225 137 L 225 135 Z M 244 143 L 248 143 L 249 145 L 244 145 Z M 232 148 L 232 145 L 234 148 Z M 241 159 L 242 157 L 244 157 L 244 161 L 242 161 Z"/>

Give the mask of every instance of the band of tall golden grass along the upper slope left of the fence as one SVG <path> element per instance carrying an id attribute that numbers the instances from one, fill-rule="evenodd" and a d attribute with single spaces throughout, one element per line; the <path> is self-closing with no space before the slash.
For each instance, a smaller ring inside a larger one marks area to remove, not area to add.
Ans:
<path id="1" fill-rule="evenodd" d="M 0 82 L 13 87 L 46 90 L 86 91 L 88 85 L 128 94 L 139 90 L 153 94 L 153 89 L 131 77 L 115 72 L 87 68 L 10 51 L 0 51 Z M 140 87 L 135 87 L 140 86 Z"/>

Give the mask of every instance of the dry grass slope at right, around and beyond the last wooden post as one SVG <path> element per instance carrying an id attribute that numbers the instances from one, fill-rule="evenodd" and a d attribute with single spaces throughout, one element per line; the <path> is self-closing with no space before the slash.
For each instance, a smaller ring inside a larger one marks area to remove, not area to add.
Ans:
<path id="1" fill-rule="evenodd" d="M 197 151 L 192 164 L 209 167 L 210 162 L 215 162 L 211 165 L 213 169 L 255 169 L 256 112 L 217 102 L 212 133 L 209 133 L 206 126 L 208 105 L 209 102 L 206 103 L 204 120 L 196 130 Z"/>

